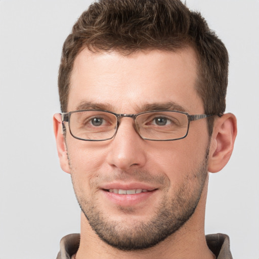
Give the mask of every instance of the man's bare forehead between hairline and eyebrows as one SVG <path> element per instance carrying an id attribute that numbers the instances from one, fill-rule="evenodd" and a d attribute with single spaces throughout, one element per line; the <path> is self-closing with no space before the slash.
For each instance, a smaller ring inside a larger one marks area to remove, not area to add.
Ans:
<path id="1" fill-rule="evenodd" d="M 93 53 L 82 50 L 74 61 L 68 111 L 83 103 L 134 113 L 147 104 L 175 103 L 187 112 L 203 110 L 195 84 L 195 52 L 139 51 Z"/>

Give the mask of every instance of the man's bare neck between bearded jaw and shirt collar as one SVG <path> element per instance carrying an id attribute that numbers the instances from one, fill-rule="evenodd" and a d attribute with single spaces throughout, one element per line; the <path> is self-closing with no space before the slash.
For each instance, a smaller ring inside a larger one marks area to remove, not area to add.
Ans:
<path id="1" fill-rule="evenodd" d="M 204 234 L 206 193 L 207 184 L 204 186 L 195 212 L 184 226 L 154 247 L 143 250 L 123 251 L 106 244 L 92 230 L 88 220 L 81 213 L 81 238 L 76 259 L 109 259 L 115 257 L 123 259 L 215 258 L 214 254 L 207 247 Z"/>

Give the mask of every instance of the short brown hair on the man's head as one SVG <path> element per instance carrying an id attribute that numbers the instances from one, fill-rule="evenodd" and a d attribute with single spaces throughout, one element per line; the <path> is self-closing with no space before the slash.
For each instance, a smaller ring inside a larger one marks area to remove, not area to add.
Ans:
<path id="1" fill-rule="evenodd" d="M 226 108 L 228 52 L 200 13 L 180 0 L 101 0 L 92 4 L 66 38 L 59 69 L 58 87 L 62 112 L 67 111 L 70 76 L 79 52 L 138 50 L 178 51 L 191 46 L 197 54 L 196 90 L 206 114 Z M 209 134 L 213 118 L 208 119 Z"/>

